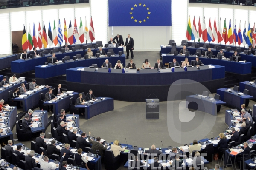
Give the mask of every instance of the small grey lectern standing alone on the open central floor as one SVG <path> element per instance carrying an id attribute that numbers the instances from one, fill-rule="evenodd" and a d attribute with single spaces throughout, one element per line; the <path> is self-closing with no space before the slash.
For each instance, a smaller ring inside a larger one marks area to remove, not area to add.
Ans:
<path id="1" fill-rule="evenodd" d="M 146 119 L 159 119 L 159 99 L 146 99 Z"/>

